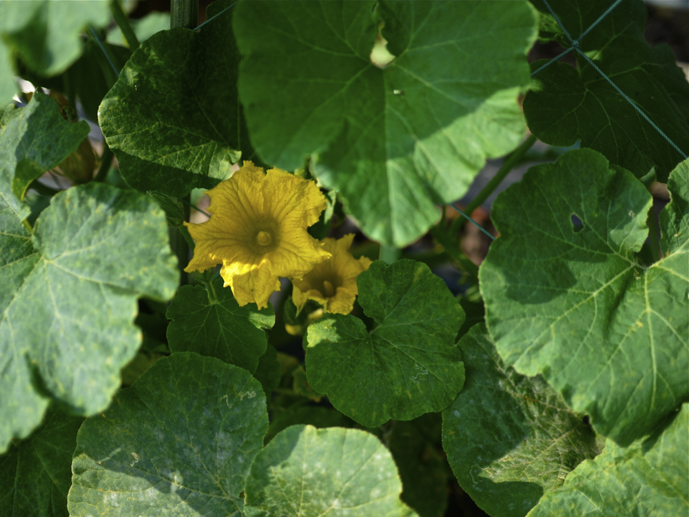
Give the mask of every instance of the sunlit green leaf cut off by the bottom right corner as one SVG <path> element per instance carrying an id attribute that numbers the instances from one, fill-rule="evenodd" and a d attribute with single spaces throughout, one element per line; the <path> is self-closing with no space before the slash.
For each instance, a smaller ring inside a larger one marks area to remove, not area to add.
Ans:
<path id="1" fill-rule="evenodd" d="M 683 404 L 656 432 L 630 447 L 612 440 L 584 461 L 562 487 L 546 494 L 529 517 L 676 517 L 689 512 L 689 407 Z"/>

